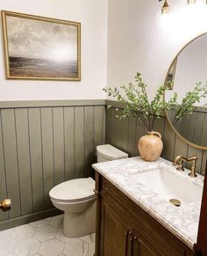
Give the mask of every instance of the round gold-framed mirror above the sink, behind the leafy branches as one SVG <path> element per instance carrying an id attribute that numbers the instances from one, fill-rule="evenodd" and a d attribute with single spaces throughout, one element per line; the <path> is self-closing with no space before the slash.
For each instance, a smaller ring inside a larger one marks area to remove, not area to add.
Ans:
<path id="1" fill-rule="evenodd" d="M 176 106 L 166 111 L 167 119 L 175 133 L 183 141 L 195 148 L 207 150 L 207 97 L 201 97 L 193 105 L 193 110 L 179 116 L 183 99 L 194 91 L 196 84 L 207 89 L 207 33 L 199 35 L 185 45 L 171 63 L 165 84 L 165 99 L 170 99 L 177 92 Z M 170 85 L 169 85 L 170 84 Z M 203 93 L 201 91 L 201 94 Z M 178 118 L 179 117 L 179 118 Z"/>

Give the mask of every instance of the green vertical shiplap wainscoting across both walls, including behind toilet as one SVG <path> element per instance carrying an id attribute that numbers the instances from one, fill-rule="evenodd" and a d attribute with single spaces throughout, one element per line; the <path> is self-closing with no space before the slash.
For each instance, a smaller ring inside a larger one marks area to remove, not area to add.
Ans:
<path id="1" fill-rule="evenodd" d="M 111 105 L 110 109 L 106 105 Z M 0 211 L 0 230 L 60 213 L 49 191 L 64 180 L 93 176 L 96 145 L 111 143 L 130 157 L 146 134 L 138 119 L 119 121 L 116 101 L 52 100 L 0 102 L 0 200 L 11 198 L 11 211 Z M 162 157 L 197 154 L 203 173 L 207 152 L 196 150 L 175 135 L 165 118 L 161 132 Z"/>

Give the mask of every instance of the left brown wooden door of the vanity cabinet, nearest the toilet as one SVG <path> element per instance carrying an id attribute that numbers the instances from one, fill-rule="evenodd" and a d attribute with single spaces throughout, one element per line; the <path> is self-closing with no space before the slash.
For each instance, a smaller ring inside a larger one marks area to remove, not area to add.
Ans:
<path id="1" fill-rule="evenodd" d="M 132 227 L 116 208 L 103 204 L 103 256 L 132 256 Z"/>

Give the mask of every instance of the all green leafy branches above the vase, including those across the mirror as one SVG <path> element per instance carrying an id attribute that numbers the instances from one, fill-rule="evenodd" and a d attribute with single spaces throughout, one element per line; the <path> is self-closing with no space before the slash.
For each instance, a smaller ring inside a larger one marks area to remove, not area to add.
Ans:
<path id="1" fill-rule="evenodd" d="M 171 83 L 172 81 L 169 81 L 165 86 L 160 86 L 152 101 L 147 97 L 146 84 L 143 82 L 140 73 L 137 73 L 135 77 L 135 84 L 130 83 L 120 86 L 122 93 L 117 87 L 114 89 L 106 87 L 103 91 L 108 96 L 117 98 L 118 102 L 125 105 L 125 108 L 120 112 L 117 109 L 117 118 L 138 117 L 145 124 L 147 130 L 152 131 L 155 119 L 161 118 L 161 113 L 165 110 L 175 111 L 175 118 L 172 121 L 173 125 L 175 125 L 183 116 L 193 113 L 197 109 L 195 104 L 207 95 L 207 83 L 204 86 L 201 83 L 197 83 L 192 91 L 186 93 L 181 105 L 177 103 L 177 92 L 174 92 L 173 96 L 167 102 L 164 99 L 164 95 L 165 91 L 168 91 L 168 88 L 171 87 L 169 86 Z"/>

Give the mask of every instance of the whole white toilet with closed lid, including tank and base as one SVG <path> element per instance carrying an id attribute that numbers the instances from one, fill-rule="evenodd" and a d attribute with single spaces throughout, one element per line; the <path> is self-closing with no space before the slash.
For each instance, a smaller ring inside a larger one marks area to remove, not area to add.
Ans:
<path id="1" fill-rule="evenodd" d="M 128 155 L 110 144 L 96 147 L 97 163 L 126 158 Z M 63 233 L 78 238 L 95 232 L 96 194 L 92 178 L 71 179 L 49 192 L 54 207 L 64 211 Z"/>

